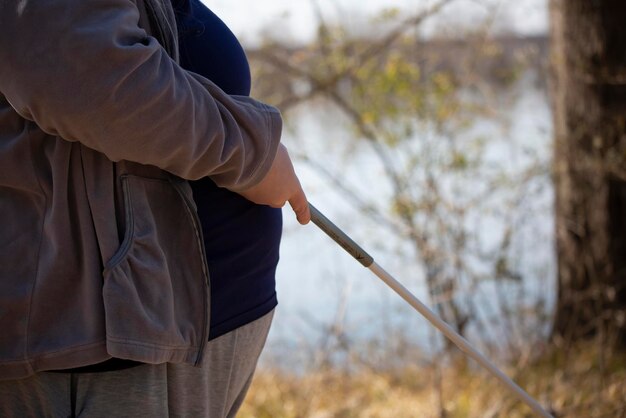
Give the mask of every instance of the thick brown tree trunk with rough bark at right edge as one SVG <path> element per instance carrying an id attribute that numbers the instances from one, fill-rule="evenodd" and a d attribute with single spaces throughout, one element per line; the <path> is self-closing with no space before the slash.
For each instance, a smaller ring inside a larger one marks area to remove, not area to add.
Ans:
<path id="1" fill-rule="evenodd" d="M 556 342 L 626 346 L 626 2 L 551 0 Z"/>

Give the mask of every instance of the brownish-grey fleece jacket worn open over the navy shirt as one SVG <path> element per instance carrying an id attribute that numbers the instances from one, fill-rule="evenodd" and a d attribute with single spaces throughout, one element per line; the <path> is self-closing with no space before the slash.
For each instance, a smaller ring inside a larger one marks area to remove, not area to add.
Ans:
<path id="1" fill-rule="evenodd" d="M 270 106 L 181 69 L 164 0 L 0 1 L 0 379 L 198 364 L 209 277 L 187 180 L 241 190 Z"/>

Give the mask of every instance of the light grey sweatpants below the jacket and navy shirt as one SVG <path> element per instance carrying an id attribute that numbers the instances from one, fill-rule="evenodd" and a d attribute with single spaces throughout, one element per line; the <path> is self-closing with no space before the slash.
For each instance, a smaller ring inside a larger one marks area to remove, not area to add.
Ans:
<path id="1" fill-rule="evenodd" d="M 207 344 L 202 367 L 141 365 L 103 373 L 38 373 L 0 381 L 0 417 L 234 417 L 273 312 Z"/>

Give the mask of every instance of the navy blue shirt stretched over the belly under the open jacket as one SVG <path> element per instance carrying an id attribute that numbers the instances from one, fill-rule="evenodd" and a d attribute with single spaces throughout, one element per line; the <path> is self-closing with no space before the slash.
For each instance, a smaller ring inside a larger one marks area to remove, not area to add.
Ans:
<path id="1" fill-rule="evenodd" d="M 228 94 L 250 94 L 250 67 L 228 27 L 199 0 L 172 0 L 180 65 Z M 270 312 L 277 304 L 275 273 L 282 233 L 280 209 L 256 205 L 217 187 L 191 182 L 211 279 L 209 339 Z"/>

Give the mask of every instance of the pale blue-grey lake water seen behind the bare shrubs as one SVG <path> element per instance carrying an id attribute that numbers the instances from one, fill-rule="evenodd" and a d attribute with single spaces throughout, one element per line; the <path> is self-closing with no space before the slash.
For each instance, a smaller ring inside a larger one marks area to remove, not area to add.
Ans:
<path id="1" fill-rule="evenodd" d="M 522 281 L 489 280 L 492 264 L 460 255 L 471 269 L 487 277 L 479 282 L 460 280 L 457 289 L 459 304 L 477 306 L 475 315 L 483 319 L 480 326 L 472 322 L 468 328 L 472 341 L 479 346 L 500 340 L 523 345 L 528 338 L 524 334 L 529 332 L 540 338 L 547 331 L 542 315 L 549 314 L 555 298 L 552 185 L 549 173 L 541 172 L 551 161 L 549 105 L 545 92 L 534 88 L 530 77 L 510 94 L 514 97 L 512 105 L 500 115 L 507 122 L 506 128 L 501 121 L 485 119 L 463 135 L 468 142 L 470 138 L 487 138 L 481 150 L 481 173 L 496 179 L 505 173 L 503 178 L 512 186 L 489 193 L 488 182 L 463 173 L 437 173 L 442 193 L 451 201 L 486 192 L 462 221 L 472 239 L 468 245 L 493 254 L 499 251 L 507 225 L 516 226 L 506 250 L 512 254 L 507 268 L 523 277 Z M 333 184 L 319 167 L 296 159 L 309 200 L 429 304 L 424 267 L 411 243 L 353 204 L 350 193 L 386 213 L 392 190 L 372 149 L 363 143 L 355 145 L 353 132 L 346 126 L 340 116 L 323 108 L 307 108 L 290 120 L 284 142 L 292 155 L 308 155 L 345 187 L 342 190 Z M 520 191 L 519 173 L 533 164 L 541 174 Z M 511 201 L 517 203 L 513 208 L 506 206 Z M 279 307 L 262 363 L 278 359 L 281 364 L 310 364 L 320 347 L 330 347 L 328 335 L 333 326 L 340 326 L 338 335 L 346 352 L 372 341 L 385 344 L 398 334 L 425 355 L 441 348 L 441 338 L 417 312 L 313 224 L 301 227 L 288 208 L 284 218 L 277 273 Z M 523 310 L 509 315 L 507 307 Z M 532 343 L 533 338 L 526 343 Z"/>

